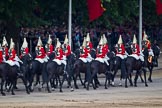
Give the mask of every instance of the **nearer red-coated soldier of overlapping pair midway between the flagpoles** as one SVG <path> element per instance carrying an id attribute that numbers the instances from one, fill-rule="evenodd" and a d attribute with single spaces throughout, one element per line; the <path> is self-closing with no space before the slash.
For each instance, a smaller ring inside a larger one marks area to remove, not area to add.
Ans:
<path id="1" fill-rule="evenodd" d="M 97 50 L 96 50 L 96 59 L 97 61 L 101 62 L 101 63 L 106 63 L 106 65 L 108 66 L 109 63 L 107 61 L 107 59 L 105 59 L 105 55 L 106 55 L 106 51 L 105 51 L 105 47 L 104 47 L 104 40 L 103 37 L 101 36 L 99 45 L 97 46 Z"/>

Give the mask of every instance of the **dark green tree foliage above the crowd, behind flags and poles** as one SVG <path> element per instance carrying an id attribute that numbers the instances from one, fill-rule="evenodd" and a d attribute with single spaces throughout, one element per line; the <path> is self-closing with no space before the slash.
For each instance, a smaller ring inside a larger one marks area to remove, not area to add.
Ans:
<path id="1" fill-rule="evenodd" d="M 94 27 L 99 25 L 112 28 L 115 25 L 138 24 L 139 0 L 102 0 L 106 8 L 97 20 L 89 22 L 86 0 L 72 0 L 73 24 Z M 68 24 L 68 0 L 1 0 L 0 30 L 15 32 L 19 27 L 39 25 Z M 157 16 L 155 0 L 143 0 L 143 24 L 145 26 L 161 24 L 162 17 Z"/>

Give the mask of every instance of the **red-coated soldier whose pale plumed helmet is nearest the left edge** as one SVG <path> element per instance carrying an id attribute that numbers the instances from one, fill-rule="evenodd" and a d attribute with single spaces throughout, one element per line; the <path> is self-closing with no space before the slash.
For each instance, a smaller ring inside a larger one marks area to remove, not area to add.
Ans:
<path id="1" fill-rule="evenodd" d="M 8 55 L 8 43 L 6 41 L 5 36 L 3 37 L 3 42 L 2 42 L 2 53 L 3 53 L 3 59 L 6 61 L 9 58 Z"/>

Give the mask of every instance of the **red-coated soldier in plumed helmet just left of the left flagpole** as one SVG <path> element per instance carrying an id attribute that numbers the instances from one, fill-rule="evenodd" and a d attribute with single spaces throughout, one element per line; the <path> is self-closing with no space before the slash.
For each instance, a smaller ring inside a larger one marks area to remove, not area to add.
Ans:
<path id="1" fill-rule="evenodd" d="M 70 45 L 68 44 L 68 38 L 67 35 L 65 36 L 64 44 L 62 45 L 63 49 L 63 58 L 66 58 L 71 54 L 71 48 Z"/>

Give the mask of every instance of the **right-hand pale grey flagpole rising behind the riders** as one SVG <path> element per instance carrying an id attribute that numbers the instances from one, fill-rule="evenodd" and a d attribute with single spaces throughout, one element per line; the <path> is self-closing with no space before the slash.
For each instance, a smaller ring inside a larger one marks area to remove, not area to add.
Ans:
<path id="1" fill-rule="evenodd" d="M 139 47 L 142 50 L 142 0 L 139 0 Z"/>

